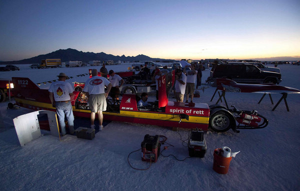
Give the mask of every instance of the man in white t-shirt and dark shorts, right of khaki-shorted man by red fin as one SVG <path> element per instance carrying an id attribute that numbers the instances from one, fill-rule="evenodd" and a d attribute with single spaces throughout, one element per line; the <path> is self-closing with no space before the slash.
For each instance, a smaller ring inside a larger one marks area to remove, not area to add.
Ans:
<path id="1" fill-rule="evenodd" d="M 187 65 L 184 67 L 183 73 L 185 73 L 185 68 Z M 197 79 L 197 70 L 195 70 L 195 65 L 191 64 L 190 65 L 190 70 L 186 72 L 186 87 L 185 87 L 185 94 L 186 94 L 186 101 L 185 103 L 188 103 L 188 95 L 190 95 L 190 103 L 192 102 L 193 99 L 193 92 L 195 91 L 195 81 Z"/>

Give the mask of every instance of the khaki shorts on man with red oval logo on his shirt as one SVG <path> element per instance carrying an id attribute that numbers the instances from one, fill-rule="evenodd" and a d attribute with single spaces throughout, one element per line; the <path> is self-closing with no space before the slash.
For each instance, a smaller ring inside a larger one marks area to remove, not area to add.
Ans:
<path id="1" fill-rule="evenodd" d="M 88 98 L 89 109 L 93 113 L 106 111 L 106 98 L 104 94 L 91 94 Z"/>

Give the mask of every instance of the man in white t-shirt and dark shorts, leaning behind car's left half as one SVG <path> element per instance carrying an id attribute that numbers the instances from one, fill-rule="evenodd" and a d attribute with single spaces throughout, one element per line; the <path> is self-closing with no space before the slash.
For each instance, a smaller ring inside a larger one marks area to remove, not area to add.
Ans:
<path id="1" fill-rule="evenodd" d="M 119 105 L 120 104 L 118 98 L 118 96 L 120 95 L 119 82 L 121 82 L 120 86 L 122 86 L 124 80 L 119 75 L 115 74 L 113 70 L 109 70 L 108 74 L 110 75 L 108 80 L 111 83 L 110 96 L 112 98 L 112 102 L 113 104 Z"/>

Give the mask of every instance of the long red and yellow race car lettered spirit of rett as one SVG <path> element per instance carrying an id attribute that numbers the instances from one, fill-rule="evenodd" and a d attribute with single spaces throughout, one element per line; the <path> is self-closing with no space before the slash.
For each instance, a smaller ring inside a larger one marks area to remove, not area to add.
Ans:
<path id="1" fill-rule="evenodd" d="M 40 89 L 29 78 L 13 77 L 15 104 L 32 110 L 55 111 L 47 89 Z M 208 107 L 206 103 L 179 103 L 168 101 L 166 94 L 166 76 L 158 79 L 158 102 L 148 102 L 149 106 L 137 108 L 139 97 L 135 94 L 123 94 L 120 105 L 107 100 L 107 109 L 103 111 L 105 120 L 139 124 L 150 124 L 172 128 L 202 129 L 210 128 L 216 132 L 232 129 L 258 129 L 267 126 L 267 119 L 256 111 L 226 109 L 220 105 Z M 88 98 L 85 92 L 74 91 L 70 99 L 73 115 L 90 117 Z"/>

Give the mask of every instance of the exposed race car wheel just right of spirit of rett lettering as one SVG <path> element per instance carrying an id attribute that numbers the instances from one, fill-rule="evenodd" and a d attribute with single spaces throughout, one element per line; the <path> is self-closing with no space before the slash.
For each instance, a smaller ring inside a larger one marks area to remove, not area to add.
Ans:
<path id="1" fill-rule="evenodd" d="M 230 129 L 230 118 L 226 112 L 217 111 L 209 118 L 209 127 L 215 132 L 225 132 Z"/>

